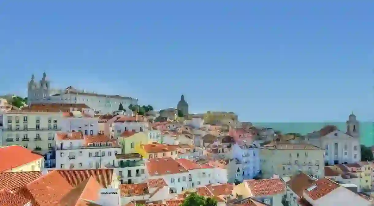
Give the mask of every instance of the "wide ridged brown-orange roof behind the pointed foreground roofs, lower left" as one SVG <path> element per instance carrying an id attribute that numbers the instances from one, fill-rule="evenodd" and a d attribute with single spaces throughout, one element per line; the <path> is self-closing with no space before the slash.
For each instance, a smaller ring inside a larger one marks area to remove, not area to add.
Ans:
<path id="1" fill-rule="evenodd" d="M 92 176 L 103 188 L 107 188 L 112 184 L 113 179 L 113 169 L 53 171 L 58 172 L 73 187 L 76 187 L 77 185 L 81 184 L 83 181 Z"/>

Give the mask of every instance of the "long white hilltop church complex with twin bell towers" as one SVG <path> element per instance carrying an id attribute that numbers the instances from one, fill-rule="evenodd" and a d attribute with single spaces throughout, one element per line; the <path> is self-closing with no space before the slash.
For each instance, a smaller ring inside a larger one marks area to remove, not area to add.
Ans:
<path id="1" fill-rule="evenodd" d="M 132 97 L 89 93 L 85 90 L 77 90 L 71 86 L 63 90 L 53 90 L 50 87 L 50 82 L 46 78 L 46 73 L 43 73 L 43 78 L 40 81 L 35 81 L 35 77 L 32 75 L 27 88 L 27 99 L 30 104 L 86 104 L 99 114 L 117 111 L 120 103 L 122 103 L 123 108 L 127 110 L 126 112 L 131 112 L 128 106 L 130 104 L 138 104 L 138 99 Z"/>

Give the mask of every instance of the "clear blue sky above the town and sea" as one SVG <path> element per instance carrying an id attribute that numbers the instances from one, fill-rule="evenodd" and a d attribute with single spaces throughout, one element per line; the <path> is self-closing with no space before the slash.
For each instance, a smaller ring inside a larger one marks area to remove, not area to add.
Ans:
<path id="1" fill-rule="evenodd" d="M 0 93 L 46 72 L 156 109 L 184 94 L 242 121 L 373 120 L 374 1 L 257 2 L 1 1 Z"/>

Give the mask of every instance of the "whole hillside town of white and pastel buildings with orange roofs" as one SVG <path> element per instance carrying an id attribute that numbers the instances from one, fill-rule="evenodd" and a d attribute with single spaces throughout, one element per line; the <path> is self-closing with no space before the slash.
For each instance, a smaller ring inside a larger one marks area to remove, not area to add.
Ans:
<path id="1" fill-rule="evenodd" d="M 0 205 L 374 203 L 374 162 L 361 161 L 353 113 L 346 131 L 283 134 L 234 112 L 190 113 L 184 95 L 156 111 L 133 97 L 50 85 L 46 73 L 32 75 L 24 103 L 0 99 Z"/>

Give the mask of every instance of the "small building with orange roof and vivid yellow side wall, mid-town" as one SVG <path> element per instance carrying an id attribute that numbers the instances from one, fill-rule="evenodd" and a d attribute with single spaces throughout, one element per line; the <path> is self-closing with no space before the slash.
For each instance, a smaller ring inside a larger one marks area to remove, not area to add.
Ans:
<path id="1" fill-rule="evenodd" d="M 147 159 L 159 157 L 171 157 L 175 159 L 178 157 L 178 151 L 180 150 L 181 147 L 179 145 L 163 145 L 159 143 L 152 143 L 139 145 L 136 152 Z"/>

